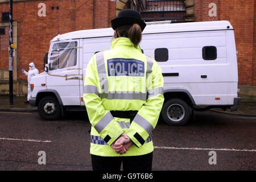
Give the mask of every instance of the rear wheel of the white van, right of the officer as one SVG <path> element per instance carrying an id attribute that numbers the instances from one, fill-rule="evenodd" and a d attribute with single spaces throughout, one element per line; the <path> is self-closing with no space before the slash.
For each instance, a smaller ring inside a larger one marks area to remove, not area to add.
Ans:
<path id="1" fill-rule="evenodd" d="M 161 115 L 167 125 L 183 126 L 191 117 L 191 107 L 180 98 L 172 98 L 164 103 Z"/>

